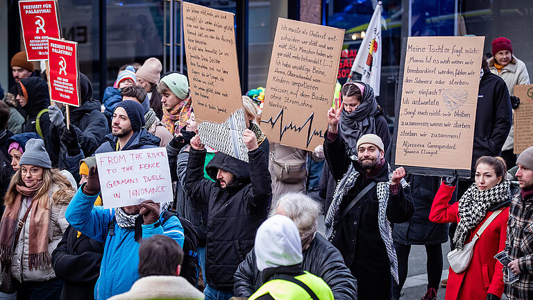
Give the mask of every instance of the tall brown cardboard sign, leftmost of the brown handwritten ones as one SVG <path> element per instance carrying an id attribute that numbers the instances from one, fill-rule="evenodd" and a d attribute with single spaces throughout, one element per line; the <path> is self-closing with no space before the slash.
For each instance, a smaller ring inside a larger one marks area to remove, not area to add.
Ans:
<path id="1" fill-rule="evenodd" d="M 194 115 L 223 123 L 242 108 L 234 15 L 183 2 L 183 37 Z"/>

